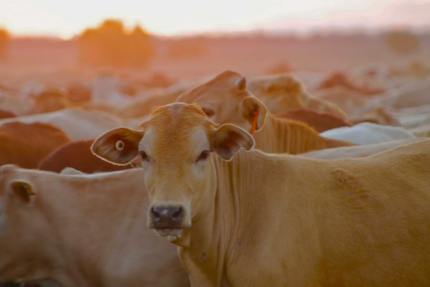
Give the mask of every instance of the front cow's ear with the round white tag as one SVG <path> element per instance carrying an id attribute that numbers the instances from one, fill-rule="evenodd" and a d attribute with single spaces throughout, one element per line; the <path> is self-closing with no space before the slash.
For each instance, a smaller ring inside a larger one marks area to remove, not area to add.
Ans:
<path id="1" fill-rule="evenodd" d="M 143 132 L 116 128 L 99 136 L 91 145 L 97 157 L 116 165 L 127 165 L 138 155 Z"/>

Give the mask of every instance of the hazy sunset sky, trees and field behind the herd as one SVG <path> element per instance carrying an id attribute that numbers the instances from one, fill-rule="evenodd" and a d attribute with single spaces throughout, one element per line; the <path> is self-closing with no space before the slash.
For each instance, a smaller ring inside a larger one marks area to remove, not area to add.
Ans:
<path id="1" fill-rule="evenodd" d="M 122 26 L 109 28 L 106 19 Z M 8 34 L 0 84 L 11 86 L 60 84 L 102 66 L 178 79 L 225 69 L 252 76 L 430 64 L 429 0 L 0 0 L 0 28 Z M 91 33 L 109 36 L 82 40 Z M 401 34 L 394 44 L 393 33 Z"/>

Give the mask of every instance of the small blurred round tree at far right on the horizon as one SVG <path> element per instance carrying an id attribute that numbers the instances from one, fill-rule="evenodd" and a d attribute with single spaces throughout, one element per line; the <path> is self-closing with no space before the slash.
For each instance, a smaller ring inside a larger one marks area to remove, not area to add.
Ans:
<path id="1" fill-rule="evenodd" d="M 420 47 L 420 38 L 410 31 L 390 31 L 384 35 L 385 44 L 399 54 L 410 54 Z"/>

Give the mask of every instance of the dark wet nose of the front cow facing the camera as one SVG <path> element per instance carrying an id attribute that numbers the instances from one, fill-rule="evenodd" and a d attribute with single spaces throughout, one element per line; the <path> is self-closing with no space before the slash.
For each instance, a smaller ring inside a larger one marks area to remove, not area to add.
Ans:
<path id="1" fill-rule="evenodd" d="M 184 209 L 175 206 L 153 207 L 151 218 L 155 228 L 179 228 L 184 218 Z"/>

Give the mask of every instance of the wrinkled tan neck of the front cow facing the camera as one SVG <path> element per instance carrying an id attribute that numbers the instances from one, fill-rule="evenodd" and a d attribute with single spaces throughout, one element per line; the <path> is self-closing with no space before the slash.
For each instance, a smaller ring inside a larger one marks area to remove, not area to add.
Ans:
<path id="1" fill-rule="evenodd" d="M 179 246 L 181 262 L 193 274 L 192 286 L 229 287 L 225 269 L 234 253 L 240 210 L 236 194 L 236 181 L 220 180 L 238 173 L 234 162 L 220 160 L 211 155 L 208 171 L 206 202 L 192 218 L 192 227 L 184 230 Z"/>

